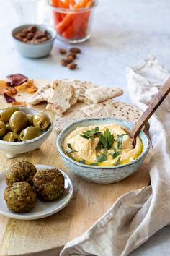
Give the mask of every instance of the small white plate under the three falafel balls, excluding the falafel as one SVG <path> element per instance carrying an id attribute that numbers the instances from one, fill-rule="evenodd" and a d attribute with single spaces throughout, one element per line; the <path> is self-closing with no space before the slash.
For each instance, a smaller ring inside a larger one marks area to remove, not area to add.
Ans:
<path id="1" fill-rule="evenodd" d="M 40 169 L 50 169 L 55 168 L 53 166 L 45 166 L 42 164 L 35 164 L 37 171 Z M 60 170 L 61 171 L 61 170 Z M 35 208 L 30 210 L 28 213 L 12 213 L 6 206 L 4 200 L 4 189 L 6 188 L 5 175 L 6 171 L 0 174 L 0 214 L 9 217 L 16 218 L 18 220 L 36 220 L 38 218 L 45 218 L 51 216 L 54 213 L 57 213 L 59 210 L 63 209 L 68 202 L 70 202 L 73 197 L 73 184 L 71 179 L 63 171 L 61 173 L 64 176 L 65 189 L 63 195 L 58 198 L 58 200 L 52 202 L 40 201 L 37 198 L 37 203 Z"/>

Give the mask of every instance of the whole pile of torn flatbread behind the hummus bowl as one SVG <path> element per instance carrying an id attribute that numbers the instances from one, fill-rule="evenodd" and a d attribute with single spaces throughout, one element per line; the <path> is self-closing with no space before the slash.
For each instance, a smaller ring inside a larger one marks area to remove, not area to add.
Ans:
<path id="1" fill-rule="evenodd" d="M 46 109 L 56 114 L 57 132 L 79 119 L 111 116 L 135 123 L 142 111 L 131 104 L 112 100 L 122 93 L 121 88 L 103 88 L 91 82 L 53 80 L 37 90 L 30 104 L 47 102 Z"/>

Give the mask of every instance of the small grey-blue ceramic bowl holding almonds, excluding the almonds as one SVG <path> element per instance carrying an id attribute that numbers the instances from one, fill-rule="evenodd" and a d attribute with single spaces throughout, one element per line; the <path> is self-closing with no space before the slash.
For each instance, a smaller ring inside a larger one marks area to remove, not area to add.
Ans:
<path id="1" fill-rule="evenodd" d="M 17 33 L 21 32 L 24 28 L 35 25 L 38 30 L 44 31 L 47 30 L 51 35 L 51 39 L 47 40 L 43 43 L 24 43 L 21 40 L 18 40 L 14 37 Z M 45 25 L 37 25 L 37 24 L 27 24 L 14 28 L 12 30 L 12 38 L 14 40 L 14 46 L 22 56 L 27 58 L 42 58 L 50 54 L 51 49 L 53 48 L 53 43 L 56 37 L 55 30 L 52 27 L 48 27 Z"/>

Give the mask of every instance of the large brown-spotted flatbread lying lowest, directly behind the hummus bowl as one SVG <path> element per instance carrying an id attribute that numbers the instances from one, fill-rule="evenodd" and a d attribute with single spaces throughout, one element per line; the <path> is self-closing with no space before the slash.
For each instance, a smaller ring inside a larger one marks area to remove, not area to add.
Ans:
<path id="1" fill-rule="evenodd" d="M 135 123 L 143 113 L 136 106 L 120 101 L 108 100 L 103 103 L 91 105 L 86 105 L 85 103 L 79 104 L 70 108 L 63 116 L 56 116 L 56 132 L 61 132 L 64 127 L 70 125 L 73 121 L 88 118 L 116 117 Z"/>

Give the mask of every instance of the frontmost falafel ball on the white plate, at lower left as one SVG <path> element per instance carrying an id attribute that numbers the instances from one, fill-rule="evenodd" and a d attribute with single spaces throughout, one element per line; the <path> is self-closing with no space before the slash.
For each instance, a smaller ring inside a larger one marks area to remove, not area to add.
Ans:
<path id="1" fill-rule="evenodd" d="M 10 184 L 4 190 L 4 199 L 9 210 L 14 213 L 27 213 L 36 204 L 35 192 L 27 182 Z"/>

